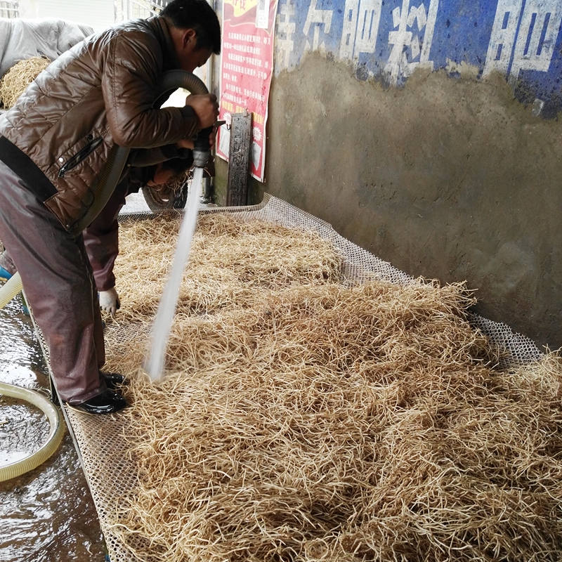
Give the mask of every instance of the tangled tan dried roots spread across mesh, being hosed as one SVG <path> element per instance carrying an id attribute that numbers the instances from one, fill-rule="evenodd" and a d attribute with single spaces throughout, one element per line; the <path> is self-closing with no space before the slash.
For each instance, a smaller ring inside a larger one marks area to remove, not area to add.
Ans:
<path id="1" fill-rule="evenodd" d="M 177 228 L 122 225 L 126 322 Z M 164 381 L 108 345 L 138 470 L 112 531 L 143 561 L 560 560 L 560 358 L 495 371 L 463 285 L 339 272 L 313 233 L 200 218 Z"/>

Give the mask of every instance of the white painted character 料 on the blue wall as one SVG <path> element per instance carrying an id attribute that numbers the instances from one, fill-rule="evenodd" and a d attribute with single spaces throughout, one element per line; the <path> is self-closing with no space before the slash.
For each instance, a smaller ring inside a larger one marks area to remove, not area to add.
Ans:
<path id="1" fill-rule="evenodd" d="M 388 34 L 388 44 L 393 45 L 393 48 L 384 68 L 390 74 L 390 82 L 393 86 L 396 86 L 400 76 L 410 76 L 420 64 L 429 65 L 433 70 L 429 51 L 433 41 L 438 6 L 439 0 L 431 0 L 429 10 L 426 11 L 423 2 L 417 7 L 410 8 L 410 0 L 403 0 L 402 9 L 393 9 L 393 27 L 398 27 L 398 31 L 391 31 Z M 416 21 L 418 32 L 425 29 L 423 38 L 413 31 L 408 31 L 408 28 L 413 29 Z M 411 60 L 408 60 L 407 49 L 410 49 Z M 418 57 L 419 60 L 416 60 Z"/>

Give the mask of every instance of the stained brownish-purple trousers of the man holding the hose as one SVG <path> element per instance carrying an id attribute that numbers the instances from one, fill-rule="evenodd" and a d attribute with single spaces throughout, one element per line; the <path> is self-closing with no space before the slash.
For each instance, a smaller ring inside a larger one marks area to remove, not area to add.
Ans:
<path id="1" fill-rule="evenodd" d="M 103 327 L 84 240 L 67 233 L 4 162 L 0 240 L 44 334 L 60 398 L 78 404 L 105 391 L 99 374 L 105 362 Z"/>

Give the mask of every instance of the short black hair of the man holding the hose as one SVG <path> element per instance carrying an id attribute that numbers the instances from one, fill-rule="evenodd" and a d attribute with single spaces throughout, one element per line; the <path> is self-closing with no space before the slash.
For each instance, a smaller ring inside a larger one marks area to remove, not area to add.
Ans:
<path id="1" fill-rule="evenodd" d="M 221 53 L 221 24 L 207 0 L 172 0 L 159 15 L 180 30 L 195 30 L 197 48 Z"/>

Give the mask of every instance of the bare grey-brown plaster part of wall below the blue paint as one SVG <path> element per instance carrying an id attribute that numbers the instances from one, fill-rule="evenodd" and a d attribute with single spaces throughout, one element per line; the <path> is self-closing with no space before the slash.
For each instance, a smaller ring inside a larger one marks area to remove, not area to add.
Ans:
<path id="1" fill-rule="evenodd" d="M 466 280 L 478 313 L 562 346 L 562 124 L 504 77 L 417 70 L 404 89 L 312 54 L 273 80 L 267 190 L 413 276 Z"/>

